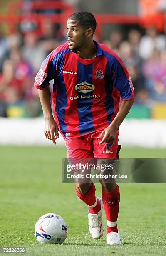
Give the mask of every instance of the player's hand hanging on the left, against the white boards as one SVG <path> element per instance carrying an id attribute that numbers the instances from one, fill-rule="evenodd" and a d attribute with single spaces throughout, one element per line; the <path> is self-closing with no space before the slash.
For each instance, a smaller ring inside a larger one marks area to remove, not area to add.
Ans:
<path id="1" fill-rule="evenodd" d="M 45 137 L 47 139 L 52 140 L 52 142 L 56 145 L 56 139 L 59 138 L 58 135 L 58 126 L 57 123 L 55 122 L 54 118 L 51 119 L 45 119 Z"/>

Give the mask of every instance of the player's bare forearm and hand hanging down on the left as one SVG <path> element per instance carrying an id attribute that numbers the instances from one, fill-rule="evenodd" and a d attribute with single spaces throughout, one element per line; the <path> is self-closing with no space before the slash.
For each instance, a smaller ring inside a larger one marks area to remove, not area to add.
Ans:
<path id="1" fill-rule="evenodd" d="M 58 126 L 55 122 L 53 115 L 52 115 L 52 109 L 51 109 L 51 93 L 50 88 L 47 87 L 45 90 L 38 90 L 40 102 L 42 105 L 44 120 L 45 120 L 45 128 L 44 133 L 45 137 L 52 140 L 52 142 L 56 145 L 56 138 L 59 138 L 58 136 Z"/>

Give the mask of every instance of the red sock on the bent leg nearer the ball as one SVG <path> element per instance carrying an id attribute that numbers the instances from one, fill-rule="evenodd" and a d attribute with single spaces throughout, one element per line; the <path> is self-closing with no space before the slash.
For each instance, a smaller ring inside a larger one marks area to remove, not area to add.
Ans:
<path id="1" fill-rule="evenodd" d="M 77 191 L 76 187 L 75 187 L 75 191 L 76 191 L 77 197 L 82 201 L 84 201 L 84 203 L 89 206 L 90 213 L 97 214 L 100 211 L 101 205 L 100 205 L 100 201 L 95 196 L 96 188 L 93 183 L 91 185 L 91 188 L 87 192 L 87 194 L 84 194 L 84 195 L 80 194 Z"/>

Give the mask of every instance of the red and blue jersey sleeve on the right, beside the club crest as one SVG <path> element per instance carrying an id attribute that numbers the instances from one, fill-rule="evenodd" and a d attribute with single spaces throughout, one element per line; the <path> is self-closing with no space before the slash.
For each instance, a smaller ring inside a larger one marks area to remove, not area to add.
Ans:
<path id="1" fill-rule="evenodd" d="M 112 83 L 119 91 L 121 100 L 131 100 L 134 98 L 134 87 L 131 77 L 121 59 L 117 56 L 111 65 Z"/>

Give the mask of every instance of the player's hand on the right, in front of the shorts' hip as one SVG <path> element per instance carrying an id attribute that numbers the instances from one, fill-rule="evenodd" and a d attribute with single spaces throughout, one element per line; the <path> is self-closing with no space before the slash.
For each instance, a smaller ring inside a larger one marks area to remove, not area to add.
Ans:
<path id="1" fill-rule="evenodd" d="M 100 134 L 100 136 L 97 137 L 98 139 L 101 139 L 99 144 L 102 144 L 104 142 L 107 142 L 107 143 L 114 142 L 114 140 L 116 139 L 116 131 L 117 131 L 117 128 L 114 128 L 112 126 L 108 126 L 107 128 L 105 128 L 104 131 L 102 131 L 102 133 Z"/>

